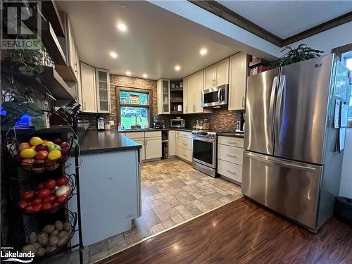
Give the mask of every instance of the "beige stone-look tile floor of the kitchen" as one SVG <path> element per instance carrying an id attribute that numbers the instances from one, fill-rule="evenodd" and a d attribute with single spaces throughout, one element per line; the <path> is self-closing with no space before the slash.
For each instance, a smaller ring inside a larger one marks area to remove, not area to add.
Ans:
<path id="1" fill-rule="evenodd" d="M 141 174 L 142 217 L 132 222 L 132 230 L 85 248 L 84 263 L 121 251 L 242 196 L 236 184 L 205 175 L 176 158 L 143 163 Z M 78 263 L 78 253 L 50 259 L 50 264 L 56 263 Z"/>

